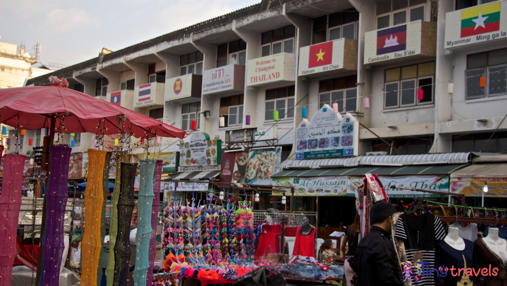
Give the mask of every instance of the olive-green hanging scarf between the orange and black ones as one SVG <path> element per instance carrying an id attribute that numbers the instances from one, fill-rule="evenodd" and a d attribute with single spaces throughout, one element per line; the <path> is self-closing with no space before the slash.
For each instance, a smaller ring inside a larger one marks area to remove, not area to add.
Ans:
<path id="1" fill-rule="evenodd" d="M 129 163 L 132 155 L 116 155 L 116 174 L 115 174 L 115 188 L 113 190 L 112 208 L 111 208 L 111 222 L 109 227 L 109 249 L 110 254 L 114 254 L 116 236 L 118 232 L 118 197 L 120 196 L 120 178 L 121 178 L 121 163 Z M 113 251 L 112 251 L 113 250 Z M 107 279 L 107 286 L 113 286 L 115 276 L 115 256 L 110 255 L 107 258 L 107 269 L 105 270 Z"/>

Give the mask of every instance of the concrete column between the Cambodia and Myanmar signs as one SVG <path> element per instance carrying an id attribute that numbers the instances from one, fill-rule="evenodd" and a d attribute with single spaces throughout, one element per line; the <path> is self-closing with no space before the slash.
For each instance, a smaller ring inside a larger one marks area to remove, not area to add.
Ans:
<path id="1" fill-rule="evenodd" d="M 434 82 L 435 102 L 435 133 L 433 146 L 429 153 L 447 153 L 452 150 L 452 136 L 440 134 L 439 122 L 451 120 L 451 95 L 447 92 L 449 83 L 453 82 L 452 53 L 444 48 L 445 44 L 445 13 L 454 11 L 451 1 L 439 1 L 437 22 L 437 61 Z"/>

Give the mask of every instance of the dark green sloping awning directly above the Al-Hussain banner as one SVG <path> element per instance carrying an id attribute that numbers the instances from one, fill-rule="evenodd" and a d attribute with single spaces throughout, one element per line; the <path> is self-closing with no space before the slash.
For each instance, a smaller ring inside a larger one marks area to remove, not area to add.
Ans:
<path id="1" fill-rule="evenodd" d="M 408 176 L 408 175 L 444 175 L 459 170 L 468 164 L 416 165 L 401 167 L 369 166 L 355 168 L 329 169 L 288 169 L 271 175 L 271 178 L 282 177 L 322 177 L 322 176 L 359 176 L 372 173 L 379 176 Z M 504 173 L 505 174 L 505 173 Z"/>

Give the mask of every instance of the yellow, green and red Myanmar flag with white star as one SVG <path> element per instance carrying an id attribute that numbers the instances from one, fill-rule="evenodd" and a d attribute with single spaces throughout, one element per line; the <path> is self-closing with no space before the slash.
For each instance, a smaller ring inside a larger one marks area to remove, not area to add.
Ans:
<path id="1" fill-rule="evenodd" d="M 499 29 L 500 2 L 461 12 L 461 37 L 494 32 Z"/>

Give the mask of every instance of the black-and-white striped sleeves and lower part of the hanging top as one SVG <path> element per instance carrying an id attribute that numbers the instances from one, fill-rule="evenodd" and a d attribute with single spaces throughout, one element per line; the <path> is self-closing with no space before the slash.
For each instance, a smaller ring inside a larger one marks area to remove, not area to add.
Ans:
<path id="1" fill-rule="evenodd" d="M 444 237 L 445 237 L 444 227 L 442 226 L 442 222 L 440 221 L 440 219 L 438 217 L 434 218 L 433 227 L 435 229 L 436 239 L 437 240 L 444 239 Z M 401 238 L 401 239 L 408 239 L 407 233 L 405 232 L 405 227 L 403 225 L 403 218 L 402 217 L 400 217 L 398 219 L 394 236 L 397 238 Z M 428 250 L 406 249 L 405 252 L 407 255 L 407 261 L 412 262 L 412 265 L 414 265 L 414 269 L 412 269 L 412 271 L 415 275 L 417 275 L 417 276 L 422 275 L 421 273 L 417 273 L 416 266 L 418 264 L 416 264 L 416 262 L 419 260 L 414 261 L 414 254 L 416 254 L 416 253 L 420 253 L 420 254 L 417 254 L 416 256 L 420 256 L 422 254 L 423 261 L 429 263 L 429 265 L 425 266 L 425 268 L 426 267 L 434 268 L 434 266 L 435 266 L 435 251 L 434 250 L 428 251 Z M 435 279 L 433 276 L 420 276 L 419 281 L 416 282 L 416 281 L 412 280 L 412 285 L 413 286 L 435 285 Z"/>

